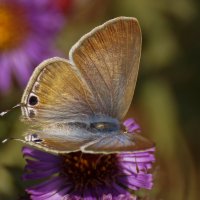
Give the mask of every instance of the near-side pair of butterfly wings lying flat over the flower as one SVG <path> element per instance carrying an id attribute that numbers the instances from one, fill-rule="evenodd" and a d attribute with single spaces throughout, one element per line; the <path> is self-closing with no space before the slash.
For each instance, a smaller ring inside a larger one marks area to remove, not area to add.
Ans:
<path id="1" fill-rule="evenodd" d="M 80 129 L 78 126 L 48 127 L 42 131 L 34 132 L 37 135 L 29 145 L 36 146 L 50 152 L 69 153 L 83 151 L 85 153 L 120 153 L 143 151 L 154 146 L 148 139 L 137 133 L 91 132 Z"/>

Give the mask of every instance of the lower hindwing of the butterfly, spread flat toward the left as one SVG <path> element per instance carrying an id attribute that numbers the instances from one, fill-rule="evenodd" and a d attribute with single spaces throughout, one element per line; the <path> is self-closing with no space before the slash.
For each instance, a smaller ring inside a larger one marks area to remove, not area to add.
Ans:
<path id="1" fill-rule="evenodd" d="M 54 153 L 81 151 L 82 146 L 97 139 L 99 139 L 98 134 L 80 126 L 64 123 L 47 125 L 42 130 L 28 131 L 25 137 L 27 144 Z"/>

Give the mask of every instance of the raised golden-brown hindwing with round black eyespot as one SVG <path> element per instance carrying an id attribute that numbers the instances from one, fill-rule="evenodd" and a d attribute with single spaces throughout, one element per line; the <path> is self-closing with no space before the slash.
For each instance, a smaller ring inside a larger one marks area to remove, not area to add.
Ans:
<path id="1" fill-rule="evenodd" d="M 21 102 L 23 119 L 32 124 L 81 121 L 96 110 L 88 85 L 62 58 L 46 60 L 36 68 Z"/>

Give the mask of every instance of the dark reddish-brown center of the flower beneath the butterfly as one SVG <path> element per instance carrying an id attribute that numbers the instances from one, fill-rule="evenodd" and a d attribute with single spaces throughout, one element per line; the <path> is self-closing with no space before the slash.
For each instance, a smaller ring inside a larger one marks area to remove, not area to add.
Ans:
<path id="1" fill-rule="evenodd" d="M 76 152 L 62 155 L 62 157 L 63 175 L 70 177 L 76 189 L 112 183 L 118 171 L 115 154 L 95 155 Z"/>

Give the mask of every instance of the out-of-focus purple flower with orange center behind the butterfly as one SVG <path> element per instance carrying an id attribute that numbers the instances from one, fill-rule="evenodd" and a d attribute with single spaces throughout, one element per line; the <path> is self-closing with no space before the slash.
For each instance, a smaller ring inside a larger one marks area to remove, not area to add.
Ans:
<path id="1" fill-rule="evenodd" d="M 0 90 L 6 91 L 14 75 L 26 84 L 33 66 L 58 55 L 54 39 L 64 17 L 52 0 L 0 0 Z"/>

